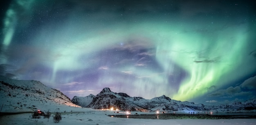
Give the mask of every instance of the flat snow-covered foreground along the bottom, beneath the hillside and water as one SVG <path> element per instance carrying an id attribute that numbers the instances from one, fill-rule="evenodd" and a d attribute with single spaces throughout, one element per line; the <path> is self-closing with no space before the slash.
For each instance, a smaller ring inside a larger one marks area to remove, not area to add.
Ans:
<path id="1" fill-rule="evenodd" d="M 1 125 L 256 125 L 256 119 L 126 119 L 109 117 L 109 112 L 74 112 L 61 114 L 62 120 L 31 119 L 31 113 L 7 115 L 0 118 Z"/>

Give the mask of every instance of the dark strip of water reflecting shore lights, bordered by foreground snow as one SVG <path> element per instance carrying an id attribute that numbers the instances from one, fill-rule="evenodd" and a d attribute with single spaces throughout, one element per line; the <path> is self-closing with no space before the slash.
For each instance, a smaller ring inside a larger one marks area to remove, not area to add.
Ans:
<path id="1" fill-rule="evenodd" d="M 256 113 L 175 113 L 110 116 L 129 119 L 256 119 Z"/>

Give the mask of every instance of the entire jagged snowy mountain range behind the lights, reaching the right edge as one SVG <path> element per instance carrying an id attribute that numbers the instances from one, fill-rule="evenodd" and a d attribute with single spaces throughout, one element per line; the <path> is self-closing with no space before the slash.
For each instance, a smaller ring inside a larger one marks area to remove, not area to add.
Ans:
<path id="1" fill-rule="evenodd" d="M 92 99 L 86 100 L 85 99 Z M 75 101 L 73 101 L 73 99 Z M 130 111 L 163 111 L 163 112 L 255 112 L 256 99 L 248 100 L 243 103 L 235 102 L 230 104 L 222 104 L 219 106 L 205 106 L 188 101 L 177 101 L 162 95 L 153 99 L 144 99 L 142 97 L 130 97 L 126 93 L 114 93 L 110 88 L 103 90 L 92 97 L 77 97 L 72 99 L 73 103 L 79 106 L 90 103 L 87 108 L 93 109 L 110 109 Z"/>

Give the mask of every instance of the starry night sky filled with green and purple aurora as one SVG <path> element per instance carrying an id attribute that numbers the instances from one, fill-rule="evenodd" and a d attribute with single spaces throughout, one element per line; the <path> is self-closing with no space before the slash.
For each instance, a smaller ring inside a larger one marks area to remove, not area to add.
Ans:
<path id="1" fill-rule="evenodd" d="M 256 96 L 249 0 L 1 3 L 0 75 L 70 97 L 103 88 L 207 105 Z"/>

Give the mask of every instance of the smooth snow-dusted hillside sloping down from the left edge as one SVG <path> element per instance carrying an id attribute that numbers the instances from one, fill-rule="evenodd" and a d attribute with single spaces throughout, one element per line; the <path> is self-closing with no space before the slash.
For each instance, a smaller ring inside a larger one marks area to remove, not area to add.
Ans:
<path id="1" fill-rule="evenodd" d="M 0 75 L 1 112 L 60 110 L 61 106 L 80 107 L 60 91 L 34 80 L 13 80 Z"/>

